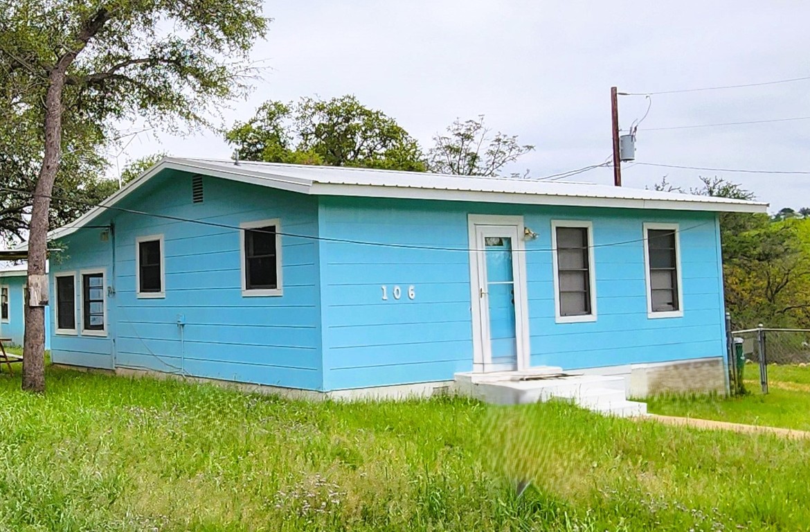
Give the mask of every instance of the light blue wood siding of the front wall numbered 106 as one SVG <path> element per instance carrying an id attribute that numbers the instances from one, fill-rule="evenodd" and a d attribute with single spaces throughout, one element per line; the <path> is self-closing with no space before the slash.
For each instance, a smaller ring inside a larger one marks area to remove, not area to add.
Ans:
<path id="1" fill-rule="evenodd" d="M 392 247 L 322 243 L 325 387 L 450 380 L 472 369 L 467 214 L 522 215 L 531 365 L 565 369 L 723 355 L 723 294 L 714 213 L 323 198 L 323 236 Z M 598 319 L 557 324 L 551 221 L 594 226 Z M 684 316 L 647 316 L 642 225 L 680 224 Z M 388 286 L 382 300 L 381 286 Z M 394 300 L 394 285 L 403 297 Z M 404 295 L 414 285 L 416 298 Z"/>

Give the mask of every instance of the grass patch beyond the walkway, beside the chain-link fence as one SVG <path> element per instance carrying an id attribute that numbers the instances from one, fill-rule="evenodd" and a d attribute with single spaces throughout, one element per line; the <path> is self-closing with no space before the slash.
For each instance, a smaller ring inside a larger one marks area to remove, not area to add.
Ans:
<path id="1" fill-rule="evenodd" d="M 769 366 L 767 395 L 760 390 L 758 366 L 748 364 L 744 376 L 746 396 L 657 397 L 647 407 L 654 414 L 810 431 L 810 367 Z"/>

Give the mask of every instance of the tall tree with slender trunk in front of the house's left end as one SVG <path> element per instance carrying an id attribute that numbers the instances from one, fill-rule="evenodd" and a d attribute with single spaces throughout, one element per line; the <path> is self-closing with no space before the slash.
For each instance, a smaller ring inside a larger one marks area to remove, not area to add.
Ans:
<path id="1" fill-rule="evenodd" d="M 242 94 L 247 54 L 265 34 L 258 0 L 2 0 L 0 87 L 41 132 L 28 237 L 28 286 L 47 287 L 54 182 L 77 128 L 101 139 L 113 121 L 156 127 L 207 123 L 213 105 Z M 0 131 L 8 131 L 4 125 Z M 23 389 L 45 391 L 43 307 L 25 309 Z"/>

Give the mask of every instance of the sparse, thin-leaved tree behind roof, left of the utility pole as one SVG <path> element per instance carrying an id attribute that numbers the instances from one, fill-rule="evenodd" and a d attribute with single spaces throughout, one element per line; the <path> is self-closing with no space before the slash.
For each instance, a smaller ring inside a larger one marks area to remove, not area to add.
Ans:
<path id="1" fill-rule="evenodd" d="M 500 177 L 505 165 L 535 149 L 531 144 L 518 143 L 518 135 L 491 133 L 484 125 L 483 114 L 477 120 L 461 122 L 457 119 L 444 135 L 433 137 L 433 148 L 428 151 L 428 169 L 439 174 Z"/>

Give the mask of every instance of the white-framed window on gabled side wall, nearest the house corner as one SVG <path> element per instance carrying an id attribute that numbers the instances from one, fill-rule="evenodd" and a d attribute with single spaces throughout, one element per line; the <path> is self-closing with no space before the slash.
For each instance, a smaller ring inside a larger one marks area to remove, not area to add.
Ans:
<path id="1" fill-rule="evenodd" d="M 242 228 L 242 294 L 281 295 L 279 221 L 249 222 Z"/>

